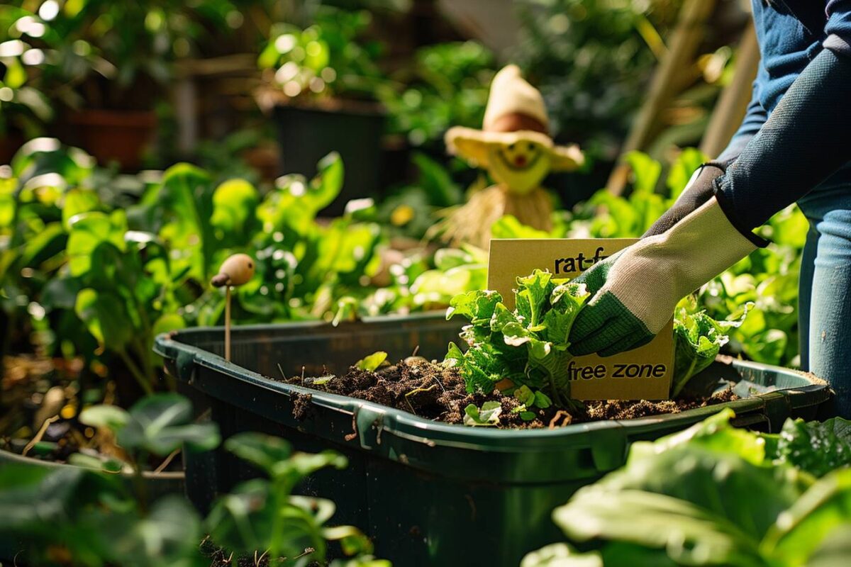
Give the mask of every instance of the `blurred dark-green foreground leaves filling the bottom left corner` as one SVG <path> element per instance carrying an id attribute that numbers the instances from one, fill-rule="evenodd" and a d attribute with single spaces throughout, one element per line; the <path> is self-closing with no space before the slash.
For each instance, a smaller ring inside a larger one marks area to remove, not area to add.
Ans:
<path id="1" fill-rule="evenodd" d="M 135 463 L 146 453 L 164 455 L 187 444 L 203 451 L 219 445 L 214 423 L 192 424 L 189 401 L 175 394 L 151 396 L 130 411 L 100 405 L 83 411 L 81 420 L 117 433 L 119 444 Z M 334 502 L 293 496 L 296 485 L 320 468 L 345 468 L 333 451 L 317 455 L 293 452 L 283 439 L 237 434 L 228 450 L 265 471 L 214 504 L 201 519 L 183 496 L 147 502 L 140 464 L 129 477 L 83 467 L 47 468 L 23 464 L 0 467 L 0 539 L 20 542 L 27 564 L 104 564 L 129 567 L 200 567 L 209 558 L 199 552 L 203 539 L 228 553 L 267 552 L 277 564 L 325 563 L 328 541 L 339 541 L 350 563 L 390 567 L 369 553 L 371 542 L 351 526 L 328 526 Z M 87 463 L 88 464 L 88 463 Z M 204 534 L 208 537 L 204 538 Z"/>

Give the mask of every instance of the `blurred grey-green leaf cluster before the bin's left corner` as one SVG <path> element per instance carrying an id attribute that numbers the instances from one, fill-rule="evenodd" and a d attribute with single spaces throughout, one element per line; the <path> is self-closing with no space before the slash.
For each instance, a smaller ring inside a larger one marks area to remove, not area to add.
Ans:
<path id="1" fill-rule="evenodd" d="M 166 456 L 182 445 L 209 451 L 219 445 L 214 422 L 192 423 L 192 406 L 180 394 L 151 394 L 130 408 L 130 421 L 118 431 L 118 444 Z"/>

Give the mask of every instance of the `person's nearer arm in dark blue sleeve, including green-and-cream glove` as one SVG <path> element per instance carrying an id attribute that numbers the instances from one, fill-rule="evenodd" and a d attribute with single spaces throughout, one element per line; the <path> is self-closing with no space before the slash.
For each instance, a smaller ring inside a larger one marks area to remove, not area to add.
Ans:
<path id="1" fill-rule="evenodd" d="M 680 298 L 764 244 L 754 228 L 851 160 L 851 0 L 830 6 L 825 50 L 715 179 L 715 195 L 577 278 L 594 295 L 571 328 L 573 354 L 648 343 Z"/>

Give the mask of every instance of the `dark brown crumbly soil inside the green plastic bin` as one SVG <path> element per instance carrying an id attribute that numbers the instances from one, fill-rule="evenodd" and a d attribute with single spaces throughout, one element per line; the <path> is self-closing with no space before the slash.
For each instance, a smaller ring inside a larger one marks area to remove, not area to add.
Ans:
<path id="1" fill-rule="evenodd" d="M 513 396 L 497 390 L 491 394 L 469 394 L 464 378 L 454 368 L 446 368 L 418 356 L 408 357 L 396 365 L 384 366 L 374 372 L 351 367 L 345 376 L 323 377 L 320 383 L 316 383 L 316 380 L 298 376 L 283 379 L 286 383 L 368 400 L 448 423 L 463 423 L 464 408 L 469 404 L 481 407 L 486 401 L 498 401 L 502 405 L 500 428 L 554 428 L 578 422 L 632 419 L 678 413 L 737 399 L 733 391 L 727 389 L 708 398 L 697 399 L 588 401 L 585 402 L 584 411 L 576 415 L 550 407 L 536 409 L 534 420 L 523 421 L 519 413 L 512 411 L 521 405 Z M 297 395 L 294 398 L 293 416 L 299 420 L 306 419 L 309 407 L 310 394 Z"/>

